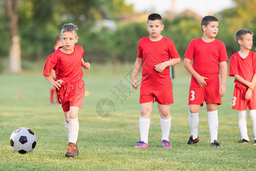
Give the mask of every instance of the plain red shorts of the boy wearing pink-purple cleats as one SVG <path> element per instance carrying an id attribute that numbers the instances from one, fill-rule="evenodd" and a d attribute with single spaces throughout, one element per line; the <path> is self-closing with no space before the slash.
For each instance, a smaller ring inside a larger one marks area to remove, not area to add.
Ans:
<path id="1" fill-rule="evenodd" d="M 172 88 L 169 89 L 143 89 L 140 88 L 140 104 L 155 101 L 159 104 L 173 104 Z"/>

